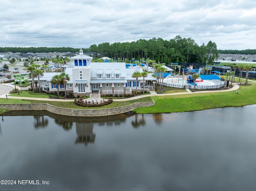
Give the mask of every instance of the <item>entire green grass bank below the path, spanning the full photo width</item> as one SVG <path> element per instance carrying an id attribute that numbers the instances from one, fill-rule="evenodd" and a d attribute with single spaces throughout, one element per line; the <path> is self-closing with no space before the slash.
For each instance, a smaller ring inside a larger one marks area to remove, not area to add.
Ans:
<path id="1" fill-rule="evenodd" d="M 256 83 L 248 86 L 240 86 L 238 92 L 238 94 L 236 94 L 236 91 L 229 91 L 199 94 L 192 93 L 186 95 L 150 96 L 146 98 L 140 98 L 138 100 L 112 102 L 112 104 L 100 108 L 124 106 L 134 102 L 147 102 L 150 101 L 151 98 L 156 102 L 156 105 L 146 108 L 137 108 L 135 111 L 137 113 L 170 113 L 256 104 Z M 22 98 L 0 98 L 0 103 L 49 103 L 51 105 L 64 108 L 99 109 L 98 107 L 84 108 L 76 106 L 74 102 L 23 100 Z"/>

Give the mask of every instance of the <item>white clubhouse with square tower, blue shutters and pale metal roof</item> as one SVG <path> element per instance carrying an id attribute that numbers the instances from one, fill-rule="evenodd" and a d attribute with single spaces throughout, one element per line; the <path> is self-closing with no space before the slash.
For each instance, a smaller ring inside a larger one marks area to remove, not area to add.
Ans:
<path id="1" fill-rule="evenodd" d="M 142 68 L 126 67 L 125 63 L 117 62 L 91 62 L 92 57 L 80 54 L 70 58 L 71 62 L 64 67 L 64 72 L 68 74 L 70 80 L 66 83 L 66 91 L 74 93 L 74 96 L 89 95 L 92 91 L 102 94 L 131 94 L 136 87 L 142 89 L 143 77 L 138 81 L 132 78 L 135 71 L 142 72 Z M 40 77 L 40 85 L 43 90 L 57 91 L 56 84 L 52 84 L 52 77 L 56 72 L 44 73 Z M 156 78 L 148 74 L 145 77 L 145 90 L 154 89 Z M 35 81 L 38 81 L 35 78 Z M 64 91 L 65 87 L 59 85 L 59 91 Z"/>

